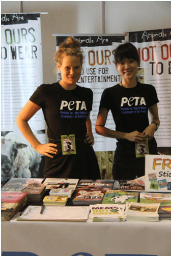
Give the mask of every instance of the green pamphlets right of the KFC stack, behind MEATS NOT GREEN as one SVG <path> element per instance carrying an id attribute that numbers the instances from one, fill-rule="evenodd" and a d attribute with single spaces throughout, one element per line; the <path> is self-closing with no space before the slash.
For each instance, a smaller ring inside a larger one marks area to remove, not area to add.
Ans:
<path id="1" fill-rule="evenodd" d="M 138 192 L 107 190 L 102 200 L 102 204 L 124 205 L 126 202 L 138 202 Z"/>

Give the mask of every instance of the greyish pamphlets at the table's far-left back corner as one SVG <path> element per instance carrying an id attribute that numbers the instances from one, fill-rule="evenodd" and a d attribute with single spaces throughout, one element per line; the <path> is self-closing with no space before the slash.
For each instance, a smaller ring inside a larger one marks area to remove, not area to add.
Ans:
<path id="1" fill-rule="evenodd" d="M 2 192 L 21 192 L 30 183 L 41 183 L 44 179 L 40 178 L 12 178 L 1 188 Z M 22 193 L 22 192 L 21 192 Z"/>

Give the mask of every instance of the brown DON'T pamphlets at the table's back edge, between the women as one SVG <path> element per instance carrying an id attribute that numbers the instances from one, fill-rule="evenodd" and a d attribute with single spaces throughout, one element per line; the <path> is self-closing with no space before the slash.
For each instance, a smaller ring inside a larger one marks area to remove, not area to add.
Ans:
<path id="1" fill-rule="evenodd" d="M 80 180 L 76 189 L 112 189 L 114 180 Z"/>

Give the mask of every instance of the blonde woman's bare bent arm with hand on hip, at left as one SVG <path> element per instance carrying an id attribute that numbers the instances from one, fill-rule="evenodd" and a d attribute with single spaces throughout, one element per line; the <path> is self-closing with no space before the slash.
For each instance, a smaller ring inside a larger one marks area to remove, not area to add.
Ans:
<path id="1" fill-rule="evenodd" d="M 52 143 L 41 144 L 40 141 L 33 134 L 28 124 L 28 121 L 35 115 L 35 113 L 40 108 L 41 107 L 29 100 L 18 113 L 16 123 L 23 136 L 26 138 L 27 141 L 29 141 L 29 143 L 38 153 L 52 158 L 53 156 L 49 155 L 48 153 L 56 154 L 58 150 L 54 149 L 53 147 L 56 147 L 57 145 Z"/>

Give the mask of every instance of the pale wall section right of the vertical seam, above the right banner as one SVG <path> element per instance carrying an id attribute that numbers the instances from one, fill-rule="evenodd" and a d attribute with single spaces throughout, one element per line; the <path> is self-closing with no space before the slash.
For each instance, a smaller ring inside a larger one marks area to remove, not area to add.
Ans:
<path id="1" fill-rule="evenodd" d="M 105 33 L 167 29 L 170 17 L 170 1 L 107 1 Z"/>

